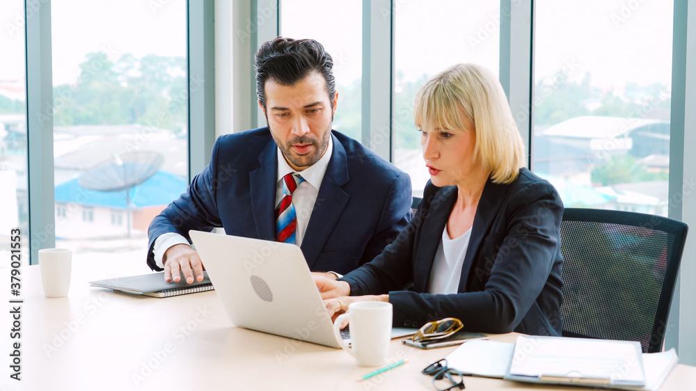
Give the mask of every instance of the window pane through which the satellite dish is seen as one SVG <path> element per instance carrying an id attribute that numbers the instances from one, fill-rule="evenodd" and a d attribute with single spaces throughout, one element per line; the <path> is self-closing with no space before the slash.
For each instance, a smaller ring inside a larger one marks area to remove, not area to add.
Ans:
<path id="1" fill-rule="evenodd" d="M 56 244 L 143 256 L 186 189 L 186 1 L 52 1 Z"/>

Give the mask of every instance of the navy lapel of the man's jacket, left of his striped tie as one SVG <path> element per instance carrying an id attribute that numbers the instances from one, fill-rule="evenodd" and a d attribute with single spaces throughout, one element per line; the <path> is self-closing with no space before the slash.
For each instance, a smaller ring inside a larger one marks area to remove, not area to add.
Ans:
<path id="1" fill-rule="evenodd" d="M 276 143 L 270 141 L 259 155 L 260 167 L 249 173 L 251 209 L 259 239 L 276 240 Z"/>

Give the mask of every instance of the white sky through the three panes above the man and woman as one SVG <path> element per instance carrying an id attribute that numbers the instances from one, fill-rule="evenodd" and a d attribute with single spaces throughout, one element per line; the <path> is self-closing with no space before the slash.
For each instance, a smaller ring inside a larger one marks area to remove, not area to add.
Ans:
<path id="1" fill-rule="evenodd" d="M 361 75 L 361 1 L 283 0 L 281 33 L 313 37 L 342 59 L 339 83 Z M 461 62 L 498 74 L 499 0 L 394 0 L 395 68 L 406 79 Z M 519 0 L 512 0 L 512 12 Z M 537 0 L 535 77 L 571 70 L 596 86 L 669 84 L 673 6 L 665 0 Z M 332 17 L 331 15 L 340 15 Z M 312 21 L 312 22 L 309 22 Z M 386 54 L 385 54 L 386 55 Z M 571 64 L 571 66 L 569 66 Z"/>

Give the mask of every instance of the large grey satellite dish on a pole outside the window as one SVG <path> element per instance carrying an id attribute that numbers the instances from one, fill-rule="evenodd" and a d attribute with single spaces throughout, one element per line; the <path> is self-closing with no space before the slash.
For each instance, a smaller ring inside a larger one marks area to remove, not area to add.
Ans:
<path id="1" fill-rule="evenodd" d="M 98 163 L 77 179 L 85 189 L 99 191 L 123 191 L 126 193 L 126 219 L 128 237 L 130 230 L 130 189 L 145 182 L 164 163 L 161 153 L 155 151 L 136 151 L 113 154 L 109 159 Z"/>

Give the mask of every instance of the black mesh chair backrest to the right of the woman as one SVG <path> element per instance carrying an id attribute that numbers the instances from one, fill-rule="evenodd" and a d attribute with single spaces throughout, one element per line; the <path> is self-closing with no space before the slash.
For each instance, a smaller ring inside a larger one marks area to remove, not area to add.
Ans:
<path id="1" fill-rule="evenodd" d="M 661 216 L 567 208 L 561 222 L 563 335 L 661 351 L 688 226 Z"/>

